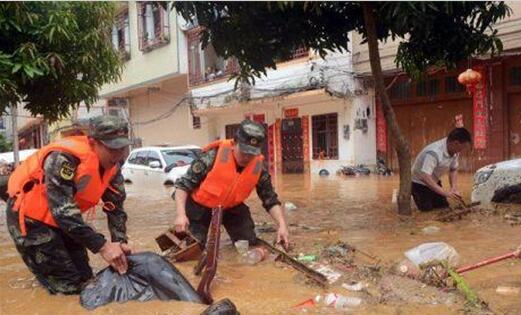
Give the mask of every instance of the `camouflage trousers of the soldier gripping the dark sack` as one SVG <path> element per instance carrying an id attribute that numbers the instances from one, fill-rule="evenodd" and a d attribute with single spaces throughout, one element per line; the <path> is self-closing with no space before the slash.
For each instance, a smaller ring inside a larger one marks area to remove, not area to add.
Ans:
<path id="1" fill-rule="evenodd" d="M 49 293 L 78 294 L 92 278 L 87 250 L 60 229 L 29 218 L 21 235 L 12 200 L 6 208 L 7 228 L 29 270 Z"/>

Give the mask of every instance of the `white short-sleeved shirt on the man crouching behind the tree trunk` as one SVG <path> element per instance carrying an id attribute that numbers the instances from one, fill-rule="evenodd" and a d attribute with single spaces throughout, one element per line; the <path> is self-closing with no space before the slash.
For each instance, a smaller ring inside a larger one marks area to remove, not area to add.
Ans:
<path id="1" fill-rule="evenodd" d="M 432 175 L 435 181 L 439 181 L 441 176 L 449 171 L 458 169 L 459 154 L 449 155 L 447 151 L 447 138 L 443 138 L 427 145 L 418 154 L 412 165 L 412 181 L 414 183 L 426 185 L 420 179 L 420 172 Z"/>

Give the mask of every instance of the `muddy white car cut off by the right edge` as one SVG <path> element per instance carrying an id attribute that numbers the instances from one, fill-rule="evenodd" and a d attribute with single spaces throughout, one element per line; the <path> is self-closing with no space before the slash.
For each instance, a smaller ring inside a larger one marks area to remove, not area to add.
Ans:
<path id="1" fill-rule="evenodd" d="M 511 199 L 512 196 L 506 194 L 519 194 L 520 188 L 521 159 L 499 162 L 482 167 L 476 172 L 471 199 L 487 208 L 491 206 L 491 201 Z"/>

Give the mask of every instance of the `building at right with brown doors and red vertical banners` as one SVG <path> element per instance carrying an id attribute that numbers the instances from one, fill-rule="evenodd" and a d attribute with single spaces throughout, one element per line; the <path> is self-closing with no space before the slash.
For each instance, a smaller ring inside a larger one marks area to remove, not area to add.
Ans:
<path id="1" fill-rule="evenodd" d="M 463 170 L 475 171 L 489 163 L 521 157 L 521 4 L 508 4 L 512 15 L 495 26 L 504 46 L 501 55 L 477 56 L 451 71 L 434 70 L 420 81 L 396 69 L 397 42 L 380 43 L 391 103 L 413 157 L 456 126 L 465 126 L 474 138 L 473 150 L 460 159 Z M 360 42 L 360 35 L 353 34 L 353 67 L 360 75 L 370 76 L 368 48 Z M 482 75 L 474 93 L 457 81 L 469 62 Z M 396 169 L 392 139 L 378 109 L 378 154 Z"/>

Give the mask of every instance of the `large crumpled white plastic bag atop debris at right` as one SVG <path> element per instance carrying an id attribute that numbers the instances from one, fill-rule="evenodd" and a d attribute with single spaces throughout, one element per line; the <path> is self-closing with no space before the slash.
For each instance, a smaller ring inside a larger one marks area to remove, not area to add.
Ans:
<path id="1" fill-rule="evenodd" d="M 432 242 L 418 245 L 405 252 L 405 256 L 419 267 L 422 264 L 429 264 L 435 261 L 446 260 L 449 266 L 454 267 L 458 265 L 459 254 L 454 249 L 444 242 Z"/>

